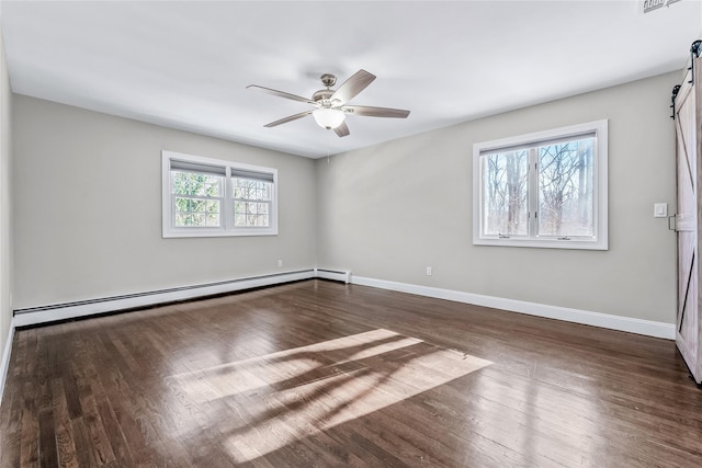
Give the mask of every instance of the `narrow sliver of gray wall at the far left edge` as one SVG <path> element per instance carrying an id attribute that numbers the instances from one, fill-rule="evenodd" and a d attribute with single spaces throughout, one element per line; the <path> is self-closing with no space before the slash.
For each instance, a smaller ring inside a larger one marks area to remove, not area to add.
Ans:
<path id="1" fill-rule="evenodd" d="M 12 92 L 4 57 L 4 42 L 0 31 L 0 356 L 4 351 L 12 321 L 11 106 Z"/>

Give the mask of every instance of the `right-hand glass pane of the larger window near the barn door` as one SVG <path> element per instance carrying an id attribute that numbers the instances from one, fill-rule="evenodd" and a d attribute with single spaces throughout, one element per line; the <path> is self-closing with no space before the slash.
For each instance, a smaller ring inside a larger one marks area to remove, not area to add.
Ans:
<path id="1" fill-rule="evenodd" d="M 539 147 L 539 236 L 593 236 L 595 138 Z"/>

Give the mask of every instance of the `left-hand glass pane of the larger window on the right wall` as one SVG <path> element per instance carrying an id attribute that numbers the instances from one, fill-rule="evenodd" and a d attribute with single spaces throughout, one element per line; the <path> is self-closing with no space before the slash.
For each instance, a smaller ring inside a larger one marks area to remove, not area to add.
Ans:
<path id="1" fill-rule="evenodd" d="M 483 158 L 483 232 L 526 236 L 529 151 L 517 150 Z"/>

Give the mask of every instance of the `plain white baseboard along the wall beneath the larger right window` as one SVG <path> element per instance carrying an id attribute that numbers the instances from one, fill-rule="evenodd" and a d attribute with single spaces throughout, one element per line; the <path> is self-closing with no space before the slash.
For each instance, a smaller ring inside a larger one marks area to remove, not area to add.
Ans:
<path id="1" fill-rule="evenodd" d="M 654 322 L 650 320 L 633 319 L 630 317 L 613 316 L 609 313 L 591 312 L 589 310 L 570 309 L 567 307 L 548 306 L 545 304 L 528 303 L 524 300 L 505 299 L 501 297 L 483 296 L 479 294 L 464 293 L 438 287 L 419 286 L 408 283 L 396 283 L 385 279 L 375 279 L 362 276 L 352 276 L 352 284 L 372 286 L 382 289 L 397 290 L 416 294 L 418 296 L 434 297 L 438 299 L 453 300 L 456 303 L 472 304 L 475 306 L 491 307 L 512 312 L 528 313 L 530 316 L 545 317 L 548 319 L 564 320 L 567 322 L 600 327 L 610 330 L 626 331 L 655 338 L 676 339 L 676 327 L 672 323 Z"/>

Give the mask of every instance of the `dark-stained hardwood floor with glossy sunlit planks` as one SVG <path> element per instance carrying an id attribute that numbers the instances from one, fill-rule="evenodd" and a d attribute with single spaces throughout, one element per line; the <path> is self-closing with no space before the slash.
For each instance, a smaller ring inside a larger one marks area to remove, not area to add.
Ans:
<path id="1" fill-rule="evenodd" d="M 18 330 L 2 467 L 699 467 L 675 343 L 306 281 Z"/>

